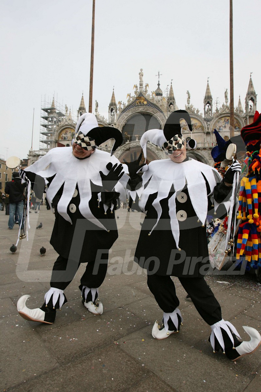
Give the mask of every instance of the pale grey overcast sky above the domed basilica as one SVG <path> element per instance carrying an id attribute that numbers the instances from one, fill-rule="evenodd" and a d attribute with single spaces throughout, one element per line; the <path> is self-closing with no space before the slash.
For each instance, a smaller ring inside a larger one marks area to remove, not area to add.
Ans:
<path id="1" fill-rule="evenodd" d="M 96 0 L 94 92 L 108 117 L 143 81 L 164 91 L 173 79 L 180 109 L 203 111 L 207 78 L 214 101 L 229 91 L 229 0 Z M 39 148 L 41 99 L 55 99 L 76 113 L 82 91 L 88 110 L 92 0 L 0 0 L 0 157 L 26 158 Z M 244 108 L 250 72 L 261 110 L 261 4 L 234 0 L 235 106 Z M 93 111 L 95 104 L 93 103 Z"/>

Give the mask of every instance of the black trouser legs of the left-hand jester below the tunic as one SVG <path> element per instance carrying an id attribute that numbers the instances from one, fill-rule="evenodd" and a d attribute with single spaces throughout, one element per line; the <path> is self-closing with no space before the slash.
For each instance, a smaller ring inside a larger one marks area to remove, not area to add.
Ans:
<path id="1" fill-rule="evenodd" d="M 89 261 L 84 274 L 81 277 L 81 286 L 90 289 L 98 288 L 105 279 L 108 266 L 108 253 L 101 255 L 101 263 Z M 54 263 L 51 275 L 50 286 L 56 289 L 65 290 L 74 278 L 81 263 L 58 256 Z"/>

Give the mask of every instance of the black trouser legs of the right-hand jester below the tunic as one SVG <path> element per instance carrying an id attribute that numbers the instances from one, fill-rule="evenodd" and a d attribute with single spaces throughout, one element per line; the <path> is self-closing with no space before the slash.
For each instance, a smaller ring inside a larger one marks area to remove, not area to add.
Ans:
<path id="1" fill-rule="evenodd" d="M 180 283 L 190 295 L 198 313 L 209 325 L 222 319 L 221 308 L 204 277 L 179 277 Z M 148 288 L 165 313 L 172 313 L 179 306 L 175 285 L 170 276 L 148 275 Z"/>

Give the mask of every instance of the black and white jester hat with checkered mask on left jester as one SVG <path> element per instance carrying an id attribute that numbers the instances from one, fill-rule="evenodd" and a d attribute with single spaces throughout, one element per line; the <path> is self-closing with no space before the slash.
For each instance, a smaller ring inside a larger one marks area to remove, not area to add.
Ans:
<path id="1" fill-rule="evenodd" d="M 79 117 L 76 124 L 75 136 L 72 140 L 72 144 L 76 143 L 85 150 L 91 150 L 109 139 L 115 140 L 111 150 L 111 155 L 113 155 L 114 151 L 121 145 L 123 140 L 119 129 L 111 126 L 99 127 L 94 114 L 84 113 Z"/>

